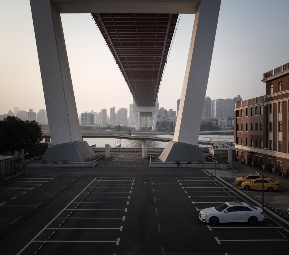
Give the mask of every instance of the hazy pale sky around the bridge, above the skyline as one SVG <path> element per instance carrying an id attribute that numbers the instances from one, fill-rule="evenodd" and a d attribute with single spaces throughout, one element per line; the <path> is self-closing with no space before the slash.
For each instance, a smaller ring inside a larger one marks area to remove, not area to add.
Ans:
<path id="1" fill-rule="evenodd" d="M 288 0 L 222 0 L 206 95 L 265 95 L 263 73 L 289 62 Z M 77 112 L 129 108 L 132 96 L 90 14 L 62 14 Z M 194 15 L 182 14 L 159 91 L 177 110 Z M 46 109 L 29 0 L 0 0 L 0 114 Z"/>

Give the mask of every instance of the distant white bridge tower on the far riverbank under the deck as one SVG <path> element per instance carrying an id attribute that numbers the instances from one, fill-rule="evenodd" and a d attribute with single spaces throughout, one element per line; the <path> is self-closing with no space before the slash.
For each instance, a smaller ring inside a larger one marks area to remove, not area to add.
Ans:
<path id="1" fill-rule="evenodd" d="M 158 97 L 155 102 L 155 106 L 145 107 L 145 106 L 136 106 L 136 102 L 133 100 L 132 102 L 132 110 L 134 113 L 134 122 L 136 124 L 136 131 L 139 131 L 142 127 L 142 117 L 149 117 L 151 119 L 151 131 L 155 131 L 155 125 L 158 120 L 159 113 L 159 103 Z M 144 121 L 144 124 L 147 125 L 147 121 Z"/>

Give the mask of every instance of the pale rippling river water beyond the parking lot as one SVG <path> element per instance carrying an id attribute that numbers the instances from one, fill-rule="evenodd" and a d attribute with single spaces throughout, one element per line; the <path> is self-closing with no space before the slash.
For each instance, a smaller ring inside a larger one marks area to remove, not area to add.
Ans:
<path id="1" fill-rule="evenodd" d="M 170 135 L 164 135 L 164 137 L 172 137 Z M 228 142 L 234 143 L 234 134 L 229 135 L 199 135 L 200 141 L 210 141 L 210 138 L 223 138 Z M 115 138 L 83 138 L 84 141 L 87 141 L 88 145 L 95 147 L 105 147 L 106 144 L 109 144 L 111 147 L 121 147 L 125 148 L 141 148 L 142 141 L 136 140 L 127 140 L 127 139 L 115 139 Z M 158 142 L 158 141 L 146 141 L 148 148 L 164 148 L 168 144 L 167 142 Z"/>

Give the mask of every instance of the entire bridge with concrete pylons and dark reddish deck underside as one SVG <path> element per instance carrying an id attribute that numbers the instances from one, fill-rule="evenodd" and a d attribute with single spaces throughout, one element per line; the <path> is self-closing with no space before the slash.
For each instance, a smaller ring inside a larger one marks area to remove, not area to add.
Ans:
<path id="1" fill-rule="evenodd" d="M 92 15 L 131 91 L 136 130 L 142 116 L 150 116 L 155 127 L 158 90 L 178 15 L 190 13 L 195 18 L 175 134 L 160 160 L 204 160 L 197 143 L 220 4 L 221 0 L 30 0 L 52 142 L 43 159 L 62 161 L 64 152 L 71 157 L 65 159 L 74 162 L 95 156 L 81 136 L 61 13 Z"/>

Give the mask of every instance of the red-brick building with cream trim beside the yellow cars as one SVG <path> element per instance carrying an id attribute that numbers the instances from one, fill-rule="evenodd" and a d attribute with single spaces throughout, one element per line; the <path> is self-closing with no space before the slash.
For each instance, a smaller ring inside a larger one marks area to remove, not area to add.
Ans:
<path id="1" fill-rule="evenodd" d="M 288 176 L 289 63 L 263 74 L 266 95 L 237 102 L 236 158 Z"/>

